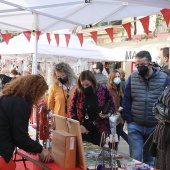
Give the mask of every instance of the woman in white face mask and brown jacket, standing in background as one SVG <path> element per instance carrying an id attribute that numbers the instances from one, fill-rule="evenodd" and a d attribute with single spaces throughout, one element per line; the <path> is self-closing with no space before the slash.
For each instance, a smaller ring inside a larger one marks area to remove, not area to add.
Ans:
<path id="1" fill-rule="evenodd" d="M 108 78 L 108 88 L 112 93 L 112 96 L 114 98 L 115 104 L 116 104 L 116 109 L 115 109 L 115 114 L 116 112 L 122 112 L 122 98 L 123 98 L 123 92 L 122 92 L 122 87 L 121 87 L 121 79 L 120 79 L 120 72 L 118 70 L 114 70 L 110 72 L 109 78 Z M 123 131 L 123 126 L 124 126 L 124 121 L 121 118 L 120 123 L 116 127 L 116 131 L 118 134 L 118 138 L 122 136 L 122 138 L 128 143 L 128 136 L 127 134 Z"/>

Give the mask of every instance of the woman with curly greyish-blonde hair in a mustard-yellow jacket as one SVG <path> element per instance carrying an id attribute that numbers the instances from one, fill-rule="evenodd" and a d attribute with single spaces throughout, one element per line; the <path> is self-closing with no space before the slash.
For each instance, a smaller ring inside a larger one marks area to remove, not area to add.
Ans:
<path id="1" fill-rule="evenodd" d="M 75 89 L 76 75 L 71 67 L 64 62 L 56 64 L 48 98 L 48 107 L 52 113 L 69 117 L 68 108 Z"/>

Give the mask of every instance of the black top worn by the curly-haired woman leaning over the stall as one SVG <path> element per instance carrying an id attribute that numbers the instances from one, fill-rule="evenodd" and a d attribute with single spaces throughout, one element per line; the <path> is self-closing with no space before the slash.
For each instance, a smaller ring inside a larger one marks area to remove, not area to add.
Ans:
<path id="1" fill-rule="evenodd" d="M 0 155 L 9 162 L 15 147 L 41 153 L 42 146 L 28 135 L 31 108 L 19 96 L 0 98 Z"/>

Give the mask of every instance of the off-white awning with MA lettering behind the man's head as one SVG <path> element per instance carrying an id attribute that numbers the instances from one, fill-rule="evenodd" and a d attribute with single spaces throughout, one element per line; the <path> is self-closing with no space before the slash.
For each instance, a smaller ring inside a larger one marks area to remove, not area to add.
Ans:
<path id="1" fill-rule="evenodd" d="M 141 41 L 114 42 L 102 44 L 102 47 L 112 49 L 112 58 L 119 58 L 120 61 L 135 61 L 135 54 L 142 50 L 149 51 L 152 61 L 156 61 L 160 49 L 169 46 L 169 38 L 164 36 Z"/>

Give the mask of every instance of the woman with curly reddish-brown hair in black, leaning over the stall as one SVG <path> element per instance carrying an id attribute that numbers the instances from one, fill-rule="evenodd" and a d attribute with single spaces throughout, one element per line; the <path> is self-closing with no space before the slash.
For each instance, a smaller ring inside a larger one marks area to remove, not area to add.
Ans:
<path id="1" fill-rule="evenodd" d="M 15 169 L 11 158 L 16 147 L 50 160 L 50 152 L 28 135 L 32 106 L 47 89 L 40 75 L 21 76 L 5 85 L 0 98 L 0 170 Z"/>

